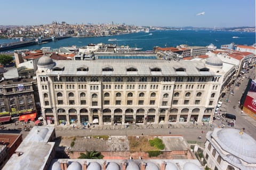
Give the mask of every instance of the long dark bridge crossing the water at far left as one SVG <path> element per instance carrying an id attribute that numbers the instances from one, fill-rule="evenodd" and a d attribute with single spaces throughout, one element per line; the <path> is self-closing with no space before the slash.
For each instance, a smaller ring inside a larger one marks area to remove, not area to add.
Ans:
<path id="1" fill-rule="evenodd" d="M 51 41 L 55 41 L 55 40 L 59 40 L 59 39 L 65 39 L 65 38 L 70 38 L 70 36 L 44 38 L 44 39 L 41 39 L 40 42 L 51 42 Z M 6 44 L 2 44 L 0 46 L 0 51 L 10 50 L 10 49 L 18 48 L 18 47 L 22 47 L 22 46 L 35 45 L 38 43 L 39 42 L 36 39 L 32 39 L 30 41 L 25 41 L 25 42 L 6 43 Z"/>

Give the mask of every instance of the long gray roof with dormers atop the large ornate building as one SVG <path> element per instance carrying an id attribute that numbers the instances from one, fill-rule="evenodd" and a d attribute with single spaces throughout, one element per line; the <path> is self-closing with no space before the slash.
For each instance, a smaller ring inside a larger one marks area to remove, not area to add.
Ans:
<path id="1" fill-rule="evenodd" d="M 209 71 L 199 71 L 205 67 L 201 61 L 166 61 L 166 60 L 58 60 L 56 66 L 64 66 L 63 71 L 49 72 L 48 75 L 213 75 Z M 81 65 L 87 66 L 88 71 L 77 71 Z M 106 66 L 113 67 L 113 71 L 102 71 Z M 136 68 L 138 71 L 126 71 L 127 68 Z M 150 68 L 159 68 L 161 71 L 151 71 Z M 175 71 L 175 68 L 184 68 L 186 71 Z M 107 73 L 108 72 L 108 73 Z"/>

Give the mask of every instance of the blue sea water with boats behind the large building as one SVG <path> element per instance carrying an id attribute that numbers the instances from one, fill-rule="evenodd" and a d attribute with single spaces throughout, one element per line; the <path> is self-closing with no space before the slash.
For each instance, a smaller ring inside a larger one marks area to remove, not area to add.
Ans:
<path id="1" fill-rule="evenodd" d="M 116 39 L 116 41 L 108 41 L 108 39 Z M 17 42 L 19 39 L 0 39 L 1 43 Z M 82 47 L 87 44 L 117 44 L 118 46 L 130 46 L 143 48 L 142 51 L 153 50 L 153 47 L 176 47 L 180 44 L 189 46 L 207 46 L 211 43 L 217 48 L 223 44 L 235 43 L 239 45 L 255 44 L 255 33 L 237 32 L 237 31 L 217 31 L 217 30 L 154 30 L 149 33 L 132 33 L 105 37 L 70 37 L 59 41 L 49 42 L 45 44 L 37 44 L 31 46 L 23 46 L 7 51 L 28 49 L 37 50 L 42 47 Z"/>

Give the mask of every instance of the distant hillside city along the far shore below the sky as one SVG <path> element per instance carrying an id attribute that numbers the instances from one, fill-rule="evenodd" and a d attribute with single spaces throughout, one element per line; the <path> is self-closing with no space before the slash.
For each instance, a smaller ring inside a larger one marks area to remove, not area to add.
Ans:
<path id="1" fill-rule="evenodd" d="M 150 30 L 222 30 L 222 31 L 243 31 L 255 32 L 255 27 L 233 27 L 233 28 L 202 28 L 202 27 L 155 27 L 155 26 L 134 26 L 125 23 L 107 24 L 75 24 L 71 25 L 65 21 L 53 21 L 51 24 L 38 26 L 0 26 L 0 38 L 13 37 L 51 37 L 51 36 L 74 36 L 74 37 L 97 37 L 120 34 L 138 33 Z"/>

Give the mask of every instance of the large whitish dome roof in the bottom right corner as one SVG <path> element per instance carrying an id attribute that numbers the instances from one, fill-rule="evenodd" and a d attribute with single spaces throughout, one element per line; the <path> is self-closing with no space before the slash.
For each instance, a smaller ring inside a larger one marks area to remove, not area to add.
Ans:
<path id="1" fill-rule="evenodd" d="M 214 139 L 220 147 L 247 163 L 256 163 L 256 141 L 246 133 L 239 133 L 238 129 L 219 129 Z"/>

